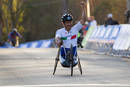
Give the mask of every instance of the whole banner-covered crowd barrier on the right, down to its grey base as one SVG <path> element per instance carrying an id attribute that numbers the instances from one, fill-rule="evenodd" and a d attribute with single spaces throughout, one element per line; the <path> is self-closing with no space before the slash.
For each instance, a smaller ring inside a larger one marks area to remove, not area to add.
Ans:
<path id="1" fill-rule="evenodd" d="M 91 31 L 91 32 L 89 32 Z M 85 48 L 95 49 L 105 53 L 126 53 L 130 55 L 130 25 L 109 25 L 89 28 L 83 42 Z M 87 38 L 87 39 L 86 39 Z"/>

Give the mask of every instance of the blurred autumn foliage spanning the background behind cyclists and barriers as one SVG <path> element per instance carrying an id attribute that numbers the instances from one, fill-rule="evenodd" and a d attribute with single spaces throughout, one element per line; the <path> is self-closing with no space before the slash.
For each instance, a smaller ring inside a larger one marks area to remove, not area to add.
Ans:
<path id="1" fill-rule="evenodd" d="M 68 11 L 74 21 L 80 19 L 80 1 L 68 0 Z M 90 0 L 91 15 L 104 24 L 108 13 L 123 24 L 126 0 Z M 21 42 L 49 39 L 61 28 L 62 0 L 0 0 L 0 42 L 7 41 L 8 33 L 16 27 L 22 34 Z M 74 22 L 75 23 L 75 22 Z"/>

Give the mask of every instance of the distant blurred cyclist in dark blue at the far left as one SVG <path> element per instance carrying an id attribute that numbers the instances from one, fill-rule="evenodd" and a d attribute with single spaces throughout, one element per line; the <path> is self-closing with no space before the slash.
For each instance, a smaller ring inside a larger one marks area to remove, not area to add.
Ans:
<path id="1" fill-rule="evenodd" d="M 20 33 L 17 31 L 16 28 L 14 28 L 12 30 L 12 32 L 9 33 L 8 35 L 8 39 L 9 39 L 9 42 L 11 43 L 12 46 L 16 47 L 17 43 L 19 42 L 18 41 L 18 38 L 21 38 L 21 35 Z"/>

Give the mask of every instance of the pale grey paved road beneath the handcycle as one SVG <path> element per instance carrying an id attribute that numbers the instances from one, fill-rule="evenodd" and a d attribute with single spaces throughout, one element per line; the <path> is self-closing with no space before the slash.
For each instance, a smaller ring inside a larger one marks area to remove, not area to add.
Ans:
<path id="1" fill-rule="evenodd" d="M 59 64 L 53 76 L 57 49 L 0 49 L 1 87 L 130 87 L 130 59 L 79 50 L 83 75 L 74 76 Z"/>

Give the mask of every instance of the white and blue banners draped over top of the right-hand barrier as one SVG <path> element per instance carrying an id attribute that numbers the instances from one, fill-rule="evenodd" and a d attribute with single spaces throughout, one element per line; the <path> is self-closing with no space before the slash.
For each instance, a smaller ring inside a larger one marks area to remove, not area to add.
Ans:
<path id="1" fill-rule="evenodd" d="M 130 25 L 109 25 L 107 27 L 101 25 L 94 29 L 90 27 L 82 43 L 86 46 L 87 42 L 112 43 L 114 50 L 129 50 Z"/>

